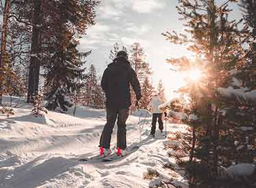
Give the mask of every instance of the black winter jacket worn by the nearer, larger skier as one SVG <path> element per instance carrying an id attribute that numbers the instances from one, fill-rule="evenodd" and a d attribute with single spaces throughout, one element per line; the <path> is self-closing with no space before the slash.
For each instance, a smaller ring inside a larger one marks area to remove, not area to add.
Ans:
<path id="1" fill-rule="evenodd" d="M 101 80 L 101 88 L 107 98 L 107 108 L 126 109 L 131 106 L 130 84 L 140 99 L 140 82 L 129 61 L 123 57 L 114 59 L 107 66 Z"/>

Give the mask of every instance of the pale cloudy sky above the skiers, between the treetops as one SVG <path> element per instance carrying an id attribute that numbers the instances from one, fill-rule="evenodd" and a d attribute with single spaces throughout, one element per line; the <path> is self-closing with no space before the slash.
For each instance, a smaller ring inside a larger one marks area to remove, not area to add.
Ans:
<path id="1" fill-rule="evenodd" d="M 217 0 L 224 3 L 225 0 Z M 178 0 L 102 0 L 97 6 L 96 25 L 89 27 L 80 40 L 79 50 L 92 50 L 87 65 L 93 64 L 102 76 L 115 42 L 128 49 L 134 42 L 144 48 L 146 61 L 151 66 L 154 86 L 162 80 L 166 97 L 172 98 L 180 86 L 181 78 L 170 70 L 166 59 L 191 56 L 184 46 L 170 44 L 162 33 L 183 31 L 181 16 L 177 13 Z M 241 18 L 238 5 L 231 3 L 231 18 Z"/>

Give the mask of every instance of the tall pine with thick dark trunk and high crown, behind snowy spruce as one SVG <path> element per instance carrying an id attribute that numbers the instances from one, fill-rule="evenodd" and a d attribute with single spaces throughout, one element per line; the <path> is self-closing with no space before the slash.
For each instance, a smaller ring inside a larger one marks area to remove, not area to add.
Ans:
<path id="1" fill-rule="evenodd" d="M 31 21 L 33 31 L 29 65 L 28 102 L 31 101 L 31 93 L 37 93 L 38 91 L 40 66 L 45 66 L 47 63 L 51 64 L 53 56 L 51 48 L 57 43 L 56 39 L 60 39 L 57 36 L 62 32 L 60 25 L 65 27 L 64 31 L 73 34 L 73 39 L 81 37 L 86 33 L 86 29 L 90 25 L 94 25 L 94 17 L 96 16 L 94 8 L 98 4 L 99 1 L 91 0 L 34 0 L 32 3 L 29 1 L 30 10 L 31 6 L 33 6 L 32 12 L 35 14 L 30 14 L 34 15 L 34 18 Z M 24 12 L 22 13 L 25 14 Z M 29 15 L 25 14 L 25 16 L 29 18 Z"/>

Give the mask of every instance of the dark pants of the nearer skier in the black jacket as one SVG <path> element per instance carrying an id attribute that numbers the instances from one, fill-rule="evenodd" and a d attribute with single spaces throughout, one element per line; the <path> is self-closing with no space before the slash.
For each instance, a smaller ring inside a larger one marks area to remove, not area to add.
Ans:
<path id="1" fill-rule="evenodd" d="M 101 134 L 99 146 L 110 148 L 110 140 L 117 118 L 117 147 L 126 148 L 126 124 L 129 116 L 129 109 L 107 109 L 107 123 Z"/>

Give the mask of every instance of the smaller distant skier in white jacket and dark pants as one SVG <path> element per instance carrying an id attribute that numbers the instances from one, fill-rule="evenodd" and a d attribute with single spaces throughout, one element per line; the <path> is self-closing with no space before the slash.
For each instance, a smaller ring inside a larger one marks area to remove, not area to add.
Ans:
<path id="1" fill-rule="evenodd" d="M 151 136 L 155 136 L 155 128 L 156 128 L 156 123 L 158 119 L 158 125 L 161 133 L 163 132 L 164 129 L 164 123 L 162 119 L 163 112 L 159 110 L 158 106 L 162 104 L 161 99 L 159 98 L 158 94 L 155 92 L 153 93 L 153 97 L 151 101 L 149 102 L 148 109 L 152 108 L 152 114 L 153 114 L 153 119 L 152 119 L 152 127 L 151 127 Z M 166 113 L 164 113 L 166 115 Z"/>

